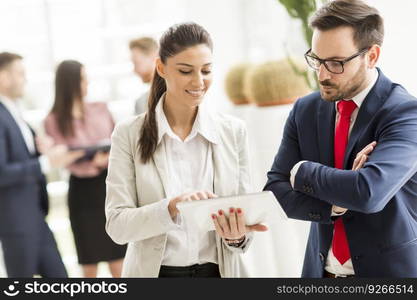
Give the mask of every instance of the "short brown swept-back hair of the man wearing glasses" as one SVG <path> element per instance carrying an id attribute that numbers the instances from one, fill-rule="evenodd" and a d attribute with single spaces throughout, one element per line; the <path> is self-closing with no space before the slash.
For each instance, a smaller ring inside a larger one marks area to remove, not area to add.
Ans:
<path id="1" fill-rule="evenodd" d="M 310 19 L 310 26 L 321 31 L 350 26 L 358 49 L 382 46 L 384 40 L 384 20 L 379 11 L 361 0 L 335 0 L 323 5 Z"/>

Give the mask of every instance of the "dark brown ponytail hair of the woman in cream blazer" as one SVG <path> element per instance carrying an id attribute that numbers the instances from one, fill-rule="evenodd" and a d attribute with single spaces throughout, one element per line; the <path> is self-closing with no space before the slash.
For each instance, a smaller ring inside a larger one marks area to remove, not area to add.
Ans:
<path id="1" fill-rule="evenodd" d="M 196 23 L 176 24 L 162 35 L 159 41 L 159 58 L 166 63 L 167 58 L 172 57 L 187 48 L 205 44 L 213 50 L 213 43 L 209 33 Z M 155 108 L 159 99 L 166 91 L 165 80 L 155 70 L 151 91 L 148 99 L 148 112 L 146 113 L 143 126 L 140 131 L 138 147 L 141 161 L 148 162 L 157 146 L 158 124 L 155 118 Z"/>

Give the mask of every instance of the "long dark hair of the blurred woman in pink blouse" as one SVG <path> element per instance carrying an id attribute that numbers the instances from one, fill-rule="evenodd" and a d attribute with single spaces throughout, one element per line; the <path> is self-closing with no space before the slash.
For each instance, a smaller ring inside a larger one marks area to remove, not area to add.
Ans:
<path id="1" fill-rule="evenodd" d="M 55 75 L 55 101 L 51 112 L 55 115 L 58 129 L 64 137 L 73 136 L 72 110 L 75 101 L 82 101 L 81 69 L 75 60 L 64 60 Z"/>

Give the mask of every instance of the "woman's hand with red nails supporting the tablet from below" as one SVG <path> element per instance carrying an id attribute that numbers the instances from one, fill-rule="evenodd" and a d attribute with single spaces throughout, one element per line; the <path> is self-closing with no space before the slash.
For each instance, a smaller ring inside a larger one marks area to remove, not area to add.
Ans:
<path id="1" fill-rule="evenodd" d="M 233 240 L 242 240 L 248 232 L 268 230 L 268 227 L 262 224 L 246 225 L 241 208 L 231 207 L 228 217 L 223 210 L 219 210 L 218 215 L 212 214 L 211 217 L 217 234 L 226 240 L 231 240 L 231 244 Z"/>

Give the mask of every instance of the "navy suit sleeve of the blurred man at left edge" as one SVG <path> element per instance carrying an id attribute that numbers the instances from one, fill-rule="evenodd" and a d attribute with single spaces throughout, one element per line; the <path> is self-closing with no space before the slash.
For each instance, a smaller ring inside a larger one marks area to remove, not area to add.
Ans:
<path id="1" fill-rule="evenodd" d="M 38 182 L 43 178 L 37 158 L 10 162 L 9 147 L 6 132 L 0 127 L 0 187 Z"/>

